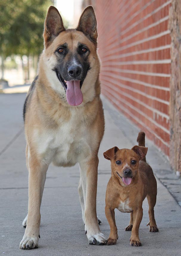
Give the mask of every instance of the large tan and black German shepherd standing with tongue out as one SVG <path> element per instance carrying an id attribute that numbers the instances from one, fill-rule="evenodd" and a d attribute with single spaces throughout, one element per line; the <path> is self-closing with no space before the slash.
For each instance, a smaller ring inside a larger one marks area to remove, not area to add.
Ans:
<path id="1" fill-rule="evenodd" d="M 92 6 L 76 29 L 65 29 L 58 10 L 49 7 L 39 74 L 24 103 L 29 170 L 28 214 L 21 249 L 38 247 L 40 205 L 48 166 L 79 163 L 79 199 L 89 244 L 103 245 L 96 214 L 98 150 L 104 133 L 100 100 L 97 22 Z"/>

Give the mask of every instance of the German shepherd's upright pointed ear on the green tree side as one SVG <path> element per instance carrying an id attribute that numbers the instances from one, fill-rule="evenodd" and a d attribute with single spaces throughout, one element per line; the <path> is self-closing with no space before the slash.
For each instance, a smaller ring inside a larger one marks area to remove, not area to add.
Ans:
<path id="1" fill-rule="evenodd" d="M 44 25 L 44 43 L 45 48 L 47 48 L 52 40 L 60 34 L 60 32 L 64 31 L 64 24 L 60 13 L 54 6 L 50 6 L 47 12 L 47 17 L 45 19 Z"/>

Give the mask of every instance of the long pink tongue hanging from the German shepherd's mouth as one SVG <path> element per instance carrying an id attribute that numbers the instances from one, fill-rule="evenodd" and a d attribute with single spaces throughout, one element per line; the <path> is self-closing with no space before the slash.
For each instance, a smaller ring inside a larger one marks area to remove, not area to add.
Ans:
<path id="1" fill-rule="evenodd" d="M 80 88 L 80 81 L 66 81 L 66 100 L 71 106 L 78 106 L 83 102 L 83 95 Z"/>

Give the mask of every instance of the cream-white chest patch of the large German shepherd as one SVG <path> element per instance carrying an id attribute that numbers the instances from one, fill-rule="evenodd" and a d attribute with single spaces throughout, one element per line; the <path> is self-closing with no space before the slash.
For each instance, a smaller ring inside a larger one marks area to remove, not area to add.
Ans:
<path id="1" fill-rule="evenodd" d="M 96 134 L 94 134 L 96 136 Z M 73 166 L 91 158 L 94 142 L 89 126 L 83 118 L 83 107 L 73 110 L 67 122 L 56 129 L 34 130 L 38 154 L 56 166 Z"/>

